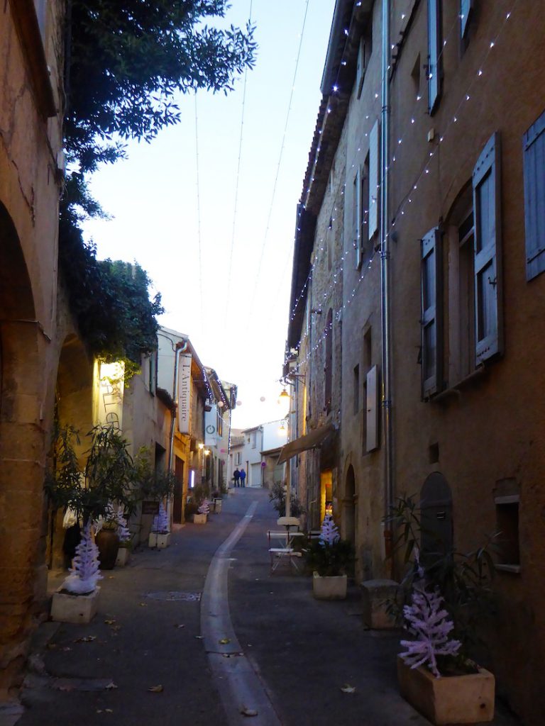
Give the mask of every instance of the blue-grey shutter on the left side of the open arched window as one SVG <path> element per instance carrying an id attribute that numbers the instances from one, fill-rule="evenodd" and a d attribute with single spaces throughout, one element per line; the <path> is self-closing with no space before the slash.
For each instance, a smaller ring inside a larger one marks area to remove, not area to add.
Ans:
<path id="1" fill-rule="evenodd" d="M 442 386 L 443 295 L 439 227 L 421 240 L 422 397 L 429 398 Z"/>

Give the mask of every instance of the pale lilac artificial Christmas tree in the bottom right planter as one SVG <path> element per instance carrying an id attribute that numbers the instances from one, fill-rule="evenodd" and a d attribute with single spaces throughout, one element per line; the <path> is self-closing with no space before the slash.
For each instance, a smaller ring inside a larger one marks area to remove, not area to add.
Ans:
<path id="1" fill-rule="evenodd" d="M 443 608 L 443 597 L 437 588 L 426 592 L 424 583 L 415 585 L 411 605 L 405 605 L 405 629 L 415 640 L 402 640 L 401 645 L 407 648 L 400 653 L 403 661 L 411 668 L 427 664 L 435 675 L 440 677 L 436 656 L 456 656 L 461 643 L 450 640 L 448 634 L 454 627 L 448 619 L 448 612 Z"/>

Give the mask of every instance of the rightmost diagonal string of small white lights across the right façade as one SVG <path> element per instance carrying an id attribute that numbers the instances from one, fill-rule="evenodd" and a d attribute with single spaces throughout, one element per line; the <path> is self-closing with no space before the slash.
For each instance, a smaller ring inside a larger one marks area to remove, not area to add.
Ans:
<path id="1" fill-rule="evenodd" d="M 400 203 L 400 205 L 398 206 L 398 208 L 395 212 L 395 216 L 392 219 L 392 224 L 390 225 L 390 227 L 387 231 L 387 236 L 392 234 L 393 228 L 395 227 L 396 220 L 399 219 L 400 216 L 403 216 L 405 214 L 405 208 L 407 208 L 407 206 L 412 203 L 413 192 L 416 192 L 417 189 L 419 188 L 421 179 L 423 179 L 425 176 L 427 176 L 427 174 L 429 174 L 429 166 L 431 164 L 432 158 L 435 157 L 435 152 L 437 152 L 437 148 L 438 148 L 439 144 L 443 144 L 443 142 L 445 141 L 445 137 L 448 134 L 448 131 L 451 131 L 451 129 L 453 129 L 453 126 L 458 122 L 459 116 L 461 115 L 461 113 L 463 113 L 463 110 L 466 107 L 467 102 L 469 102 L 469 100 L 471 99 L 472 96 L 470 94 L 470 91 L 472 91 L 472 87 L 474 86 L 475 83 L 477 83 L 478 79 L 484 75 L 483 68 L 485 67 L 485 63 L 488 60 L 488 57 L 490 56 L 492 50 L 495 48 L 496 44 L 498 43 L 498 39 L 501 36 L 501 33 L 503 33 L 503 30 L 504 30 L 509 18 L 512 16 L 512 13 L 514 12 L 514 9 L 517 6 L 518 1 L 519 0 L 514 0 L 514 2 L 512 3 L 511 9 L 509 9 L 509 11 L 507 11 L 504 16 L 504 21 L 501 24 L 501 28 L 498 30 L 498 33 L 496 33 L 496 36 L 494 36 L 494 38 L 492 38 L 491 41 L 489 42 L 488 49 L 483 57 L 483 60 L 478 65 L 477 73 L 472 78 L 472 80 L 469 82 L 466 92 L 464 94 L 462 94 L 461 101 L 459 102 L 459 105 L 456 107 L 455 113 L 452 115 L 452 118 L 450 119 L 450 121 L 448 121 L 445 131 L 443 131 L 443 134 L 441 134 L 441 136 L 438 139 L 437 147 L 435 147 L 435 150 L 432 150 L 429 152 L 426 163 L 424 164 L 423 168 L 421 168 L 421 171 L 419 172 L 419 174 L 417 174 L 416 179 L 413 181 L 413 184 L 411 184 L 411 187 L 410 187 L 408 193 L 403 197 L 402 203 Z M 395 161 L 395 158 L 392 157 L 392 163 L 394 161 Z M 391 164 L 389 166 L 391 166 Z M 387 167 L 387 171 L 389 170 L 389 166 Z M 346 256 L 346 253 L 345 253 L 345 256 Z M 371 268 L 371 264 L 373 263 L 375 257 L 376 257 L 376 252 L 374 253 L 374 255 L 371 257 L 371 260 L 366 265 L 366 270 Z M 336 320 L 339 320 L 341 311 L 343 309 L 346 309 L 347 306 L 349 306 L 350 303 L 352 302 L 352 300 L 355 298 L 355 295 L 357 293 L 360 282 L 363 280 L 363 278 L 365 276 L 366 276 L 366 272 L 363 272 L 362 274 L 360 274 L 360 276 L 358 277 L 358 281 L 356 282 L 356 285 L 352 289 L 352 292 L 350 293 L 350 295 L 348 295 L 347 298 L 345 298 L 345 302 L 343 303 L 343 305 L 335 311 L 334 317 Z M 334 285 L 334 282 L 332 281 L 330 287 L 333 285 Z M 310 348 L 310 350 L 307 351 L 307 354 L 304 356 L 304 358 L 300 359 L 299 362 L 296 364 L 296 366 L 294 367 L 295 371 L 299 371 L 300 367 L 302 367 L 302 365 L 304 365 L 308 361 L 310 356 L 315 351 L 318 350 L 318 348 L 320 347 L 320 344 L 323 342 L 323 340 L 325 340 L 327 334 L 328 334 L 328 330 L 324 330 L 324 332 L 322 333 L 322 335 L 320 335 L 320 338 L 318 338 L 318 341 L 315 343 L 315 345 L 312 346 L 312 348 Z M 304 341 L 304 339 L 306 337 L 307 337 L 307 334 L 305 333 L 302 336 L 301 340 L 299 340 L 299 343 L 296 346 L 296 348 L 299 348 L 299 346 L 301 345 L 301 343 Z"/>

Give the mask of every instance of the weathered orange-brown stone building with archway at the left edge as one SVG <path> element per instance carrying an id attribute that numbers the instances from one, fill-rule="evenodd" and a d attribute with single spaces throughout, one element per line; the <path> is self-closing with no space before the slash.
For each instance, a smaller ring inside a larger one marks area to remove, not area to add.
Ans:
<path id="1" fill-rule="evenodd" d="M 1 693 L 23 664 L 47 578 L 42 513 L 60 352 L 64 6 L 9 0 L 0 9 Z"/>

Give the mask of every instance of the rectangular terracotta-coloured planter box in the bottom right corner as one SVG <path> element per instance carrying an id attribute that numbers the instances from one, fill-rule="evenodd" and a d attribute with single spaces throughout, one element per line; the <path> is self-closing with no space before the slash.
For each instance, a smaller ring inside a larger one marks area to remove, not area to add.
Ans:
<path id="1" fill-rule="evenodd" d="M 397 656 L 397 682 L 405 701 L 433 724 L 475 724 L 494 717 L 495 680 L 491 672 L 435 678 L 424 666 L 411 669 Z"/>

